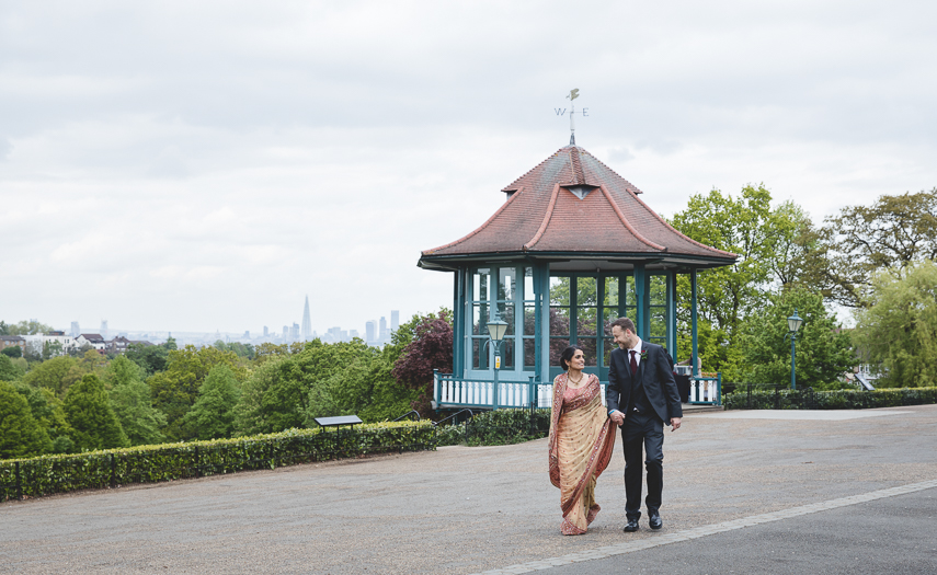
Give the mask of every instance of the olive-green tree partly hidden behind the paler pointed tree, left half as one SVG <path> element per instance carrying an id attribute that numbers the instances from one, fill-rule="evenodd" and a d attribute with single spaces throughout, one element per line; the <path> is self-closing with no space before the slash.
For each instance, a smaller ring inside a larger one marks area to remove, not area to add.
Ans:
<path id="1" fill-rule="evenodd" d="M 165 371 L 150 377 L 147 383 L 152 391 L 153 405 L 167 417 L 163 433 L 172 440 L 195 438 L 195 430 L 186 425 L 185 414 L 198 399 L 198 389 L 217 365 L 226 365 L 239 380 L 247 376 L 239 365 L 238 356 L 232 352 L 222 352 L 215 347 L 186 345 L 184 349 L 169 352 Z"/>

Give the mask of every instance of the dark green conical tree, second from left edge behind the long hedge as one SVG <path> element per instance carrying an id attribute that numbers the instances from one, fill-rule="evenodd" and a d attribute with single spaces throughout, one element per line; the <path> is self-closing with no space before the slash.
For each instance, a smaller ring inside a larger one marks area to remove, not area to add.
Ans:
<path id="1" fill-rule="evenodd" d="M 89 373 L 71 386 L 64 409 L 77 449 L 90 451 L 127 446 L 127 436 L 98 376 Z"/>

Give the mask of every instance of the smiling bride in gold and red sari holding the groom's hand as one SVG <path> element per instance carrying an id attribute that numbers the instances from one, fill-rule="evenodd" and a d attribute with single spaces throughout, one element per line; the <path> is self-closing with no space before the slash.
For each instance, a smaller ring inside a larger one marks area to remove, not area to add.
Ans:
<path id="1" fill-rule="evenodd" d="M 578 536 L 586 532 L 601 509 L 595 503 L 595 480 L 608 467 L 616 434 L 602 405 L 598 377 L 582 371 L 582 349 L 567 347 L 560 365 L 565 373 L 553 380 L 550 482 L 560 488 L 562 533 Z"/>

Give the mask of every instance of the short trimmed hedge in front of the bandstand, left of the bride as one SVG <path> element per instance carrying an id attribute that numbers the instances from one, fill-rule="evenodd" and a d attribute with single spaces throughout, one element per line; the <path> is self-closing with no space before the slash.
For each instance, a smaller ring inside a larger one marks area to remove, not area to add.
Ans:
<path id="1" fill-rule="evenodd" d="M 437 445 L 496 446 L 519 444 L 547 437 L 550 410 L 498 410 L 480 413 L 457 425 L 444 425 L 437 432 Z"/>

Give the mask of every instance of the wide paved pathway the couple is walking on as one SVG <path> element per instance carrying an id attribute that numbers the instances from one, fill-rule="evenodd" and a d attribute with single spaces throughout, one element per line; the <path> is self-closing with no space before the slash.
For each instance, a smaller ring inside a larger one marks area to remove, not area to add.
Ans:
<path id="1" fill-rule="evenodd" d="M 831 530 L 833 539 L 798 534 L 792 547 L 777 547 L 779 553 L 799 549 L 832 565 L 866 564 L 865 557 L 873 564 L 879 551 L 872 545 L 829 542 L 875 531 L 866 524 L 882 515 L 889 529 L 901 527 L 901 502 L 928 508 L 935 490 L 922 485 L 937 480 L 935 446 L 935 405 L 690 415 L 679 432 L 666 434 L 664 529 L 652 532 L 643 524 L 630 534 L 621 532 L 620 451 L 598 482 L 603 513 L 590 532 L 559 534 L 546 440 L 10 502 L 0 505 L 0 572 L 478 573 L 582 554 L 590 561 L 558 568 L 602 573 L 625 564 L 614 571 L 650 571 L 660 557 L 676 562 L 676 571 L 716 573 L 732 561 L 750 571 L 752 543 L 801 528 Z M 910 485 L 922 491 L 830 506 Z M 782 518 L 803 506 L 813 507 Z M 776 513 L 757 525 L 713 528 Z M 664 540 L 669 544 L 659 544 Z M 609 554 L 636 543 L 648 547 Z M 709 559 L 687 561 L 694 553 Z M 857 553 L 858 560 L 847 556 Z M 928 553 L 909 554 L 904 571 L 937 571 Z M 809 562 L 762 565 L 767 572 L 818 571 Z"/>

